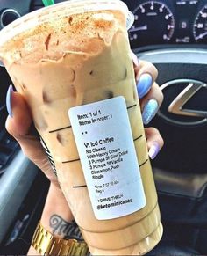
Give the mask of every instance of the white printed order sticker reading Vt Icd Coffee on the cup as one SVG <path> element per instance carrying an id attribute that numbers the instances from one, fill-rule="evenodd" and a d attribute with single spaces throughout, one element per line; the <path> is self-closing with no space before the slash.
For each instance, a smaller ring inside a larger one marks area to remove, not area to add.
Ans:
<path id="1" fill-rule="evenodd" d="M 125 98 L 75 106 L 68 114 L 96 219 L 118 218 L 145 207 Z"/>

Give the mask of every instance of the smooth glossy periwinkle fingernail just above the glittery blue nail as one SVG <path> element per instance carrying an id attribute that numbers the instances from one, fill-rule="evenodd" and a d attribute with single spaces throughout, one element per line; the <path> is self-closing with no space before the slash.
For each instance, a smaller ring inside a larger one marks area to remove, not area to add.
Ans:
<path id="1" fill-rule="evenodd" d="M 139 99 L 143 98 L 146 93 L 150 90 L 153 83 L 153 78 L 150 76 L 150 74 L 142 74 L 139 77 L 139 81 L 137 83 L 137 90 Z"/>

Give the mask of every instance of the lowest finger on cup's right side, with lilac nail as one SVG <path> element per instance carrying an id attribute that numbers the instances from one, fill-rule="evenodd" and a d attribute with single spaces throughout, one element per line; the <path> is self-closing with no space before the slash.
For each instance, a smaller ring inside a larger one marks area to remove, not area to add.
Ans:
<path id="1" fill-rule="evenodd" d="M 154 159 L 164 145 L 160 132 L 156 128 L 145 128 L 148 155 Z"/>

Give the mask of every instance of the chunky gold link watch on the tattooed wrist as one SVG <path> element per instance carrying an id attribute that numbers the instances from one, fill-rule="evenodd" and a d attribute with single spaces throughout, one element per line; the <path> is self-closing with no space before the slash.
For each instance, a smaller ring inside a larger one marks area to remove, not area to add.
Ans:
<path id="1" fill-rule="evenodd" d="M 38 224 L 32 238 L 32 246 L 40 255 L 86 256 L 89 248 L 85 242 L 75 239 L 55 238 L 41 223 Z"/>

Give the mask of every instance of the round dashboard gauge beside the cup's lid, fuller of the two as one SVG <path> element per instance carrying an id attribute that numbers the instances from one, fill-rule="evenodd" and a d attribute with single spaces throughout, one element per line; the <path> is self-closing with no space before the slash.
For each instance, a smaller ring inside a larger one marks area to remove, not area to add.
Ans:
<path id="1" fill-rule="evenodd" d="M 166 4 L 147 1 L 134 11 L 134 24 L 129 31 L 132 47 L 137 45 L 159 44 L 168 42 L 175 28 L 172 12 Z"/>

